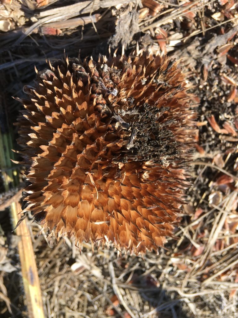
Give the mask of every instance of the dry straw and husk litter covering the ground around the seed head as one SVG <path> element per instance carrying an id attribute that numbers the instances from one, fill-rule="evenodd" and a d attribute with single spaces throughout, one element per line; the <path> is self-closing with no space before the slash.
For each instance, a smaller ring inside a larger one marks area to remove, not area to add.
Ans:
<path id="1" fill-rule="evenodd" d="M 123 44 L 127 53 L 138 45 L 181 58 L 200 99 L 200 144 L 188 204 L 175 229 L 178 239 L 170 239 L 159 255 L 120 255 L 111 246 L 93 255 L 86 244 L 80 255 L 74 242 L 56 246 L 27 221 L 45 316 L 238 317 L 236 1 L 2 0 L 0 17 L 1 141 L 11 141 L 15 149 L 12 122 L 20 105 L 11 96 L 22 97 L 23 85 L 34 80 L 34 65 L 43 69 L 46 58 L 62 57 L 64 49 L 84 58 L 106 54 L 109 45 L 121 50 Z M 5 209 L 19 199 L 19 169 L 1 164 L 3 317 L 29 316 L 18 238 Z"/>

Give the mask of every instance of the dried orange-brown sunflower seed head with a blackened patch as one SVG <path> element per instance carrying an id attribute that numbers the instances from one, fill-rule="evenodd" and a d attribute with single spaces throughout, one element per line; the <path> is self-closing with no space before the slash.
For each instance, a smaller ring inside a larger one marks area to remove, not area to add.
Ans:
<path id="1" fill-rule="evenodd" d="M 177 62 L 146 52 L 58 60 L 19 118 L 26 210 L 56 239 L 158 250 L 179 220 L 197 141 Z"/>

